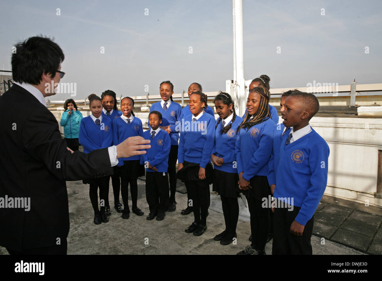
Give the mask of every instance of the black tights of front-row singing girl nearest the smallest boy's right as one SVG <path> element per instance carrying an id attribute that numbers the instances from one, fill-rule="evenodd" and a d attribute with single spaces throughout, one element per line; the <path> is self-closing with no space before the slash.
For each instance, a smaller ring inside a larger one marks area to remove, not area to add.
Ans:
<path id="1" fill-rule="evenodd" d="M 192 200 L 194 222 L 207 225 L 207 212 L 209 207 L 210 186 L 207 180 L 188 180 L 185 183 L 188 198 Z M 189 205 L 189 204 L 188 204 Z"/>

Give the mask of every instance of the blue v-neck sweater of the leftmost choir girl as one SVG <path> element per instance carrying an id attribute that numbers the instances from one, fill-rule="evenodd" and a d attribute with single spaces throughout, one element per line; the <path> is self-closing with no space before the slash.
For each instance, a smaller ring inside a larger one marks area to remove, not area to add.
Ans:
<path id="1" fill-rule="evenodd" d="M 83 118 L 79 125 L 78 142 L 84 147 L 84 153 L 111 146 L 113 134 L 110 119 L 102 117 L 100 125 L 97 126 L 91 116 Z"/>

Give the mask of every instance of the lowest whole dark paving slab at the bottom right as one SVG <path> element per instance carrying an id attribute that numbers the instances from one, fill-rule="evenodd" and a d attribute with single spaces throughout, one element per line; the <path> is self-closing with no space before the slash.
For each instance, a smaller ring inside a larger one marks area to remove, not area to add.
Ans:
<path id="1" fill-rule="evenodd" d="M 363 234 L 340 228 L 330 240 L 342 245 L 346 245 L 353 249 L 366 252 L 372 238 Z"/>

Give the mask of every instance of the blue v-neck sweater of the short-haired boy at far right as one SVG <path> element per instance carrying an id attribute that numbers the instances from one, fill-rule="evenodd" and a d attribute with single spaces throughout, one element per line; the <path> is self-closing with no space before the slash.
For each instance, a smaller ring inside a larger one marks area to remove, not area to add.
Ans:
<path id="1" fill-rule="evenodd" d="M 282 136 L 276 172 L 274 197 L 286 202 L 293 198 L 293 206 L 300 207 L 295 220 L 305 225 L 312 218 L 324 194 L 328 178 L 329 146 L 312 132 L 289 145 L 288 133 Z"/>

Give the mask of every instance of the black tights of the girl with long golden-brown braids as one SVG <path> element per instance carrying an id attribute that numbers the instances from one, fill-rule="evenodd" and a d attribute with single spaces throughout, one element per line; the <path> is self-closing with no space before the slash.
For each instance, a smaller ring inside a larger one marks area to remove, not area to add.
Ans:
<path id="1" fill-rule="evenodd" d="M 269 208 L 262 207 L 262 201 L 247 198 L 249 214 L 251 215 L 251 246 L 256 250 L 264 250 L 269 234 L 270 218 Z"/>

